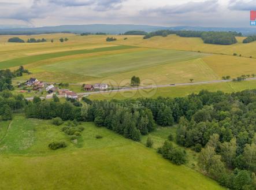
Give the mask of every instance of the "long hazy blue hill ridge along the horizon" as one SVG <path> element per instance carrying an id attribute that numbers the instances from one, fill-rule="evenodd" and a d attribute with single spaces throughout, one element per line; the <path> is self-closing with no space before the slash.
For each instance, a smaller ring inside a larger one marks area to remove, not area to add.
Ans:
<path id="1" fill-rule="evenodd" d="M 0 34 L 38 34 L 38 33 L 53 33 L 53 32 L 72 32 L 72 33 L 97 33 L 104 32 L 109 34 L 125 33 L 127 31 L 145 31 L 153 32 L 160 29 L 172 30 L 191 30 L 191 31 L 236 31 L 242 32 L 243 35 L 256 34 L 256 28 L 218 28 L 218 27 L 161 27 L 151 25 L 131 25 L 131 24 L 88 24 L 88 25 L 61 25 L 55 27 L 39 27 L 39 28 L 7 28 L 1 27 Z"/>

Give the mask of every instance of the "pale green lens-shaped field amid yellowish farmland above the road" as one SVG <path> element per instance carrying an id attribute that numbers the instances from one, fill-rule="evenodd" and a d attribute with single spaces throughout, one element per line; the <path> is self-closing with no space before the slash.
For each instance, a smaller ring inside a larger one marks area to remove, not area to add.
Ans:
<path id="1" fill-rule="evenodd" d="M 149 68 L 195 59 L 202 54 L 172 50 L 144 50 L 132 53 L 105 55 L 74 61 L 61 61 L 51 65 L 39 67 L 53 72 L 76 73 L 84 76 L 106 77 L 117 73 Z"/>

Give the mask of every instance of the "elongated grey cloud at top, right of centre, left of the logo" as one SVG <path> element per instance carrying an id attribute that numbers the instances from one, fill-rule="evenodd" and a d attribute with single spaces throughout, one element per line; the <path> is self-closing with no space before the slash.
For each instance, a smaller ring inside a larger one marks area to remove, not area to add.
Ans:
<path id="1" fill-rule="evenodd" d="M 215 12 L 218 8 L 218 0 L 208 0 L 204 2 L 188 2 L 181 5 L 165 6 L 162 8 L 142 10 L 142 14 L 183 14 L 190 12 Z"/>

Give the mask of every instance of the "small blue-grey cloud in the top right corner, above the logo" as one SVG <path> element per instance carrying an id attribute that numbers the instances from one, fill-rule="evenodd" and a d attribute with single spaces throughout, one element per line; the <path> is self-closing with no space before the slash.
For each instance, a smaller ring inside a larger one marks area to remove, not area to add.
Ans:
<path id="1" fill-rule="evenodd" d="M 231 0 L 229 2 L 228 8 L 230 10 L 255 10 L 256 3 L 255 1 L 243 1 L 243 0 Z"/>

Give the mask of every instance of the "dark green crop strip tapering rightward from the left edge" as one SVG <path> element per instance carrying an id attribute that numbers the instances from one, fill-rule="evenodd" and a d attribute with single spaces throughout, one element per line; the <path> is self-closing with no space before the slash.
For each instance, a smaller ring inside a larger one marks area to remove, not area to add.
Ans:
<path id="1" fill-rule="evenodd" d="M 32 55 L 32 56 L 28 56 L 28 57 L 21 57 L 21 58 L 2 61 L 2 62 L 0 62 L 0 69 L 11 68 L 14 66 L 19 66 L 19 65 L 27 65 L 27 64 L 31 64 L 32 62 L 41 61 L 41 60 L 50 59 L 50 58 L 65 57 L 65 56 L 69 56 L 69 55 L 78 55 L 78 54 L 88 54 L 88 53 L 95 53 L 95 52 L 101 52 L 101 51 L 131 49 L 131 48 L 134 48 L 134 47 L 113 46 L 113 47 L 102 47 L 102 48 L 91 49 L 91 50 L 74 50 L 74 51 L 64 51 L 64 52 L 58 52 L 58 53 L 42 54 L 42 55 Z"/>

